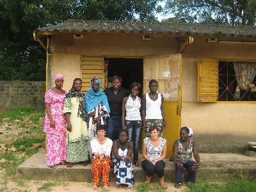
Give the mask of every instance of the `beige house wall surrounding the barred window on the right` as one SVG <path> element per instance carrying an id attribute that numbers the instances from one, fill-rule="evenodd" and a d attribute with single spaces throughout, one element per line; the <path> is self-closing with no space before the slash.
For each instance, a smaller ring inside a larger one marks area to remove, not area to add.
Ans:
<path id="1" fill-rule="evenodd" d="M 192 127 L 202 152 L 242 152 L 255 141 L 256 104 L 197 102 L 197 57 L 255 60 L 256 45 L 209 44 L 196 39 L 182 59 L 182 126 Z"/>

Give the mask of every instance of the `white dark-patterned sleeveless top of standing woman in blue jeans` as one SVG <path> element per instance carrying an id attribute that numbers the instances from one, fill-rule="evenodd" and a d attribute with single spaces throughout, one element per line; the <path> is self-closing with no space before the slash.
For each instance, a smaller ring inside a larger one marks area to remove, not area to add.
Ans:
<path id="1" fill-rule="evenodd" d="M 140 116 L 141 100 L 140 97 L 136 96 L 133 100 L 131 95 L 129 95 L 125 104 L 125 120 L 141 120 Z"/>

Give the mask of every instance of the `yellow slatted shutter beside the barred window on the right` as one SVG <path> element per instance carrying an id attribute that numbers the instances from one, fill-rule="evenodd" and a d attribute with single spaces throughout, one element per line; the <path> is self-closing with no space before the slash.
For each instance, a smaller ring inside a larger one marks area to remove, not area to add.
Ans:
<path id="1" fill-rule="evenodd" d="M 218 100 L 218 60 L 198 58 L 198 102 Z"/>

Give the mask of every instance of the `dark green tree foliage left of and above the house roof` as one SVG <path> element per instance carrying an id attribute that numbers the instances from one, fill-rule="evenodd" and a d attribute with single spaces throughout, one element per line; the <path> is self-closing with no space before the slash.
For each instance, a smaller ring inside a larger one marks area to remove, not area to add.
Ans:
<path id="1" fill-rule="evenodd" d="M 160 0 L 0 0 L 0 80 L 45 80 L 45 51 L 33 31 L 67 19 L 156 20 Z"/>

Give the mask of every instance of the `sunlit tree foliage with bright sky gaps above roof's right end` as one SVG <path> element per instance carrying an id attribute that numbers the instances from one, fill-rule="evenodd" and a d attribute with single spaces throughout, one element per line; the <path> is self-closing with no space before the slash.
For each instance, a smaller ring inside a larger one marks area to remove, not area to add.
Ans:
<path id="1" fill-rule="evenodd" d="M 255 25 L 256 0 L 166 0 L 165 13 L 173 22 Z"/>

